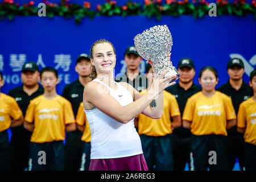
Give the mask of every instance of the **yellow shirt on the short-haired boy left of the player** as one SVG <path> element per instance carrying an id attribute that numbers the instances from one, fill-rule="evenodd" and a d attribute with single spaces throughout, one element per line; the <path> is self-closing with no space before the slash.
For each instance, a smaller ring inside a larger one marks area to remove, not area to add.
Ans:
<path id="1" fill-rule="evenodd" d="M 31 142 L 44 143 L 65 139 L 65 125 L 75 123 L 71 103 L 64 97 L 57 96 L 52 100 L 38 96 L 30 101 L 25 121 L 34 121 Z"/>

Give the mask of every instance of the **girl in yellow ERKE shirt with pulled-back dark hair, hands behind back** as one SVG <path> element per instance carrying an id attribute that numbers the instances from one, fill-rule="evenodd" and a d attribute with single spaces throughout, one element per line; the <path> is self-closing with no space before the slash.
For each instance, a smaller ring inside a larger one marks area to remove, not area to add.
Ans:
<path id="1" fill-rule="evenodd" d="M 191 170 L 228 170 L 226 129 L 236 125 L 232 100 L 215 90 L 218 75 L 213 67 L 201 69 L 199 83 L 202 91 L 188 98 L 182 118 L 193 134 Z"/>

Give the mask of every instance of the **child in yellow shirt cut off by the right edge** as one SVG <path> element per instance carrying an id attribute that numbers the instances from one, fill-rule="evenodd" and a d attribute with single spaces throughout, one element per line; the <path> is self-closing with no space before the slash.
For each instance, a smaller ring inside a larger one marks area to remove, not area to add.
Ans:
<path id="1" fill-rule="evenodd" d="M 243 158 L 245 170 L 256 171 L 256 69 L 250 74 L 249 85 L 254 95 L 243 101 L 237 114 L 237 131 L 244 133 Z"/>

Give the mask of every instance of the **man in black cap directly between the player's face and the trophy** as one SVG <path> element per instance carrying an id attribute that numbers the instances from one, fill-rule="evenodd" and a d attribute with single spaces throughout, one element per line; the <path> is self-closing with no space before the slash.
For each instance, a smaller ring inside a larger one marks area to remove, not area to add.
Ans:
<path id="1" fill-rule="evenodd" d="M 115 78 L 116 82 L 127 82 L 138 92 L 147 88 L 147 78 L 144 73 L 139 72 L 139 65 L 142 57 L 136 51 L 134 46 L 129 46 L 125 51 L 125 63 L 127 70 L 125 74 Z"/>

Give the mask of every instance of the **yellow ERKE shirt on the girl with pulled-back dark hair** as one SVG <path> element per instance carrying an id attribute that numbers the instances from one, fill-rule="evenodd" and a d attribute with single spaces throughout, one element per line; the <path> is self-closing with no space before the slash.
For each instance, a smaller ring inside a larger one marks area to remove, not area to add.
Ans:
<path id="1" fill-rule="evenodd" d="M 226 94 L 216 91 L 206 97 L 198 92 L 188 98 L 183 120 L 191 121 L 191 133 L 194 135 L 228 135 L 226 122 L 236 119 L 232 100 Z"/>

